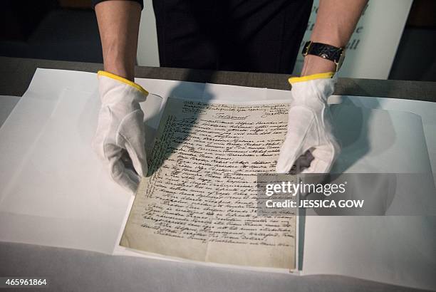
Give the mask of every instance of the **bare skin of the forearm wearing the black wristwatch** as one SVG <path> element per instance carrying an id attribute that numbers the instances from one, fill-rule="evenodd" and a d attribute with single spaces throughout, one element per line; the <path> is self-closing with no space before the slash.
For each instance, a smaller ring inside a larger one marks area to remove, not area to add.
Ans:
<path id="1" fill-rule="evenodd" d="M 368 0 L 320 0 L 311 41 L 344 47 Z M 336 71 L 336 65 L 318 56 L 304 58 L 301 75 Z"/>

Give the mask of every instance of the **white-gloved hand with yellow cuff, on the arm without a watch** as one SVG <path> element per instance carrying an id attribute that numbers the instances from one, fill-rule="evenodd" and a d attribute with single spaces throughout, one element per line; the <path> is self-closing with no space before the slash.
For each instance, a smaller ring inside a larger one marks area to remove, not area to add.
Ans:
<path id="1" fill-rule="evenodd" d="M 118 75 L 98 71 L 101 109 L 92 146 L 107 162 L 109 174 L 121 186 L 135 192 L 147 174 L 144 113 L 139 103 L 147 98 L 140 85 Z M 128 152 L 135 171 L 121 159 Z"/>

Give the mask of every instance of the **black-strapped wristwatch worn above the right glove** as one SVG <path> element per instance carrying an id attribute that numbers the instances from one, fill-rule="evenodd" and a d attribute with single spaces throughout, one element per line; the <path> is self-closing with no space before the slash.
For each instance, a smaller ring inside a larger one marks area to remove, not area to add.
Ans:
<path id="1" fill-rule="evenodd" d="M 315 55 L 332 61 L 336 64 L 336 72 L 341 68 L 345 58 L 345 48 L 326 45 L 326 43 L 313 43 L 313 41 L 306 42 L 301 53 L 305 57 L 307 55 Z"/>

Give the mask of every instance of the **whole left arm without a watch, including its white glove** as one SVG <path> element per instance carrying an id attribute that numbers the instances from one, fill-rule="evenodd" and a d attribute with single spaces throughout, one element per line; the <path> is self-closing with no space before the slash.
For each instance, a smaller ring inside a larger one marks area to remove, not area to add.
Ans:
<path id="1" fill-rule="evenodd" d="M 133 82 L 142 1 L 95 2 L 105 71 L 97 73 L 101 109 L 92 146 L 110 177 L 135 192 L 147 174 L 140 103 L 148 93 Z"/>

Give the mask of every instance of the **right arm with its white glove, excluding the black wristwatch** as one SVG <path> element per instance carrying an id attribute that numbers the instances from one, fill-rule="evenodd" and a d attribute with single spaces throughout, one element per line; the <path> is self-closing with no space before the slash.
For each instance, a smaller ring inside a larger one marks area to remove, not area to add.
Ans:
<path id="1" fill-rule="evenodd" d="M 315 43 L 344 47 L 350 40 L 366 0 L 320 0 L 318 17 L 311 36 Z M 333 135 L 327 105 L 337 76 L 336 64 L 318 56 L 304 58 L 302 77 L 289 78 L 292 102 L 289 106 L 288 130 L 280 149 L 276 172 L 288 173 L 296 164 L 302 173 L 330 172 L 341 152 Z M 309 153 L 310 155 L 309 155 Z M 301 170 L 299 157 L 306 157 Z M 308 161 L 310 164 L 307 165 Z"/>

